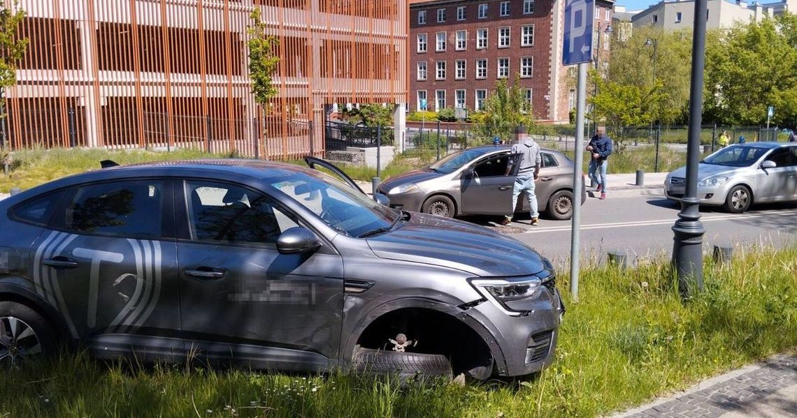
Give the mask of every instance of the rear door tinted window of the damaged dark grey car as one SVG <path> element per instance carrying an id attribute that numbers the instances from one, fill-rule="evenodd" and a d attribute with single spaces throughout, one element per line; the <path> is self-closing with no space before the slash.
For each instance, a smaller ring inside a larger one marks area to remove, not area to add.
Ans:
<path id="1" fill-rule="evenodd" d="M 112 182 L 77 189 L 66 228 L 116 236 L 161 236 L 163 182 Z"/>

